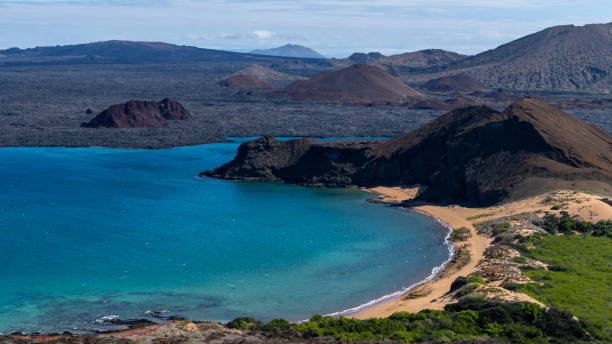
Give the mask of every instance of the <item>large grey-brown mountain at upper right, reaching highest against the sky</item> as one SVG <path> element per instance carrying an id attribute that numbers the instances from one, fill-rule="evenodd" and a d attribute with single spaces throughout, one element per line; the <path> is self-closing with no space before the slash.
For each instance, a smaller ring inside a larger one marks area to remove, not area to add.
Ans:
<path id="1" fill-rule="evenodd" d="M 612 91 L 612 23 L 555 26 L 448 68 L 488 87 Z"/>

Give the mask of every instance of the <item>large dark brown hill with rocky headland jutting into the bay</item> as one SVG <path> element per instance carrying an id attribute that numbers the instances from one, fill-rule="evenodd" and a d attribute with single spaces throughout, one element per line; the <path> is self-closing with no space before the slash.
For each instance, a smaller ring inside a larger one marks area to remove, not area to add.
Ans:
<path id="1" fill-rule="evenodd" d="M 454 110 L 389 141 L 242 144 L 206 175 L 323 186 L 415 185 L 419 199 L 492 204 L 573 187 L 612 191 L 612 136 L 539 100 Z"/>

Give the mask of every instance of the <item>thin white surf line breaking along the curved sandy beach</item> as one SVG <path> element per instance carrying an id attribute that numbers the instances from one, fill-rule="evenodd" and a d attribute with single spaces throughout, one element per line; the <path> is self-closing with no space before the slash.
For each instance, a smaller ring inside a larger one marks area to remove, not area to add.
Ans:
<path id="1" fill-rule="evenodd" d="M 446 267 L 448 266 L 448 264 L 451 262 L 451 260 L 453 259 L 453 257 L 455 256 L 455 245 L 453 245 L 452 241 L 451 241 L 451 234 L 453 233 L 453 227 L 451 227 L 451 225 L 449 225 L 448 223 L 442 221 L 441 219 L 426 213 L 424 211 L 420 211 L 420 210 L 414 210 L 414 209 L 409 209 L 409 211 L 413 211 L 416 213 L 419 213 L 421 215 L 425 215 L 429 218 L 431 218 L 432 220 L 434 220 L 439 226 L 447 229 L 447 233 L 446 236 L 444 237 L 444 245 L 446 245 L 446 247 L 448 248 L 448 259 L 446 259 L 442 264 L 435 266 L 431 269 L 431 273 L 423 280 L 413 283 L 407 287 L 402 288 L 401 290 L 392 292 L 390 294 L 381 296 L 377 299 L 371 300 L 369 302 L 366 302 L 364 304 L 361 304 L 357 307 L 353 307 L 353 308 L 349 308 L 349 309 L 345 309 L 343 311 L 339 311 L 339 312 L 334 312 L 334 313 L 330 313 L 330 314 L 325 314 L 325 316 L 330 316 L 330 317 L 339 317 L 339 316 L 345 316 L 345 315 L 351 315 L 351 314 L 355 314 L 355 313 L 359 313 L 365 309 L 369 309 L 372 308 L 374 306 L 378 306 L 380 304 L 383 303 L 387 303 L 389 301 L 395 300 L 398 297 L 404 295 L 405 293 L 411 291 L 412 289 L 423 285 L 427 282 L 430 282 L 432 280 L 434 280 L 436 277 L 438 277 L 438 275 L 440 273 L 442 273 L 442 271 L 444 271 L 444 269 L 446 269 Z M 304 321 L 308 321 L 308 320 L 303 320 Z"/>

